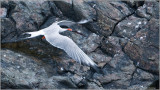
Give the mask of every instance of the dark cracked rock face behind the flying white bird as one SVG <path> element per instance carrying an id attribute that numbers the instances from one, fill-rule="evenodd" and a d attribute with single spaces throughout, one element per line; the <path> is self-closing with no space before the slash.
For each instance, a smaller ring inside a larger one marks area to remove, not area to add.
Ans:
<path id="1" fill-rule="evenodd" d="M 159 78 L 157 1 L 3 1 L 3 89 L 147 89 Z M 103 71 L 80 65 L 42 36 L 22 39 L 59 20 L 74 25 L 71 38 Z M 158 88 L 158 87 L 153 87 Z"/>

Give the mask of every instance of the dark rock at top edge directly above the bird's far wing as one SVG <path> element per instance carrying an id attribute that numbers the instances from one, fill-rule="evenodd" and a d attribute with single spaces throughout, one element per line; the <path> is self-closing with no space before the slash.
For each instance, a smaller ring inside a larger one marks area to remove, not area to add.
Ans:
<path id="1" fill-rule="evenodd" d="M 54 3 L 65 16 L 74 20 L 92 19 L 95 16 L 95 10 L 83 0 L 62 0 L 55 1 Z"/>

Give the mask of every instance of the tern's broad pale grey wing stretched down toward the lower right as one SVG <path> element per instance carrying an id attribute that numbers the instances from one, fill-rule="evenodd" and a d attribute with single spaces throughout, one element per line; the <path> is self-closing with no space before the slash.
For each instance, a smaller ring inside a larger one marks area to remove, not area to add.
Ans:
<path id="1" fill-rule="evenodd" d="M 57 34 L 54 37 L 46 38 L 46 40 L 53 46 L 63 49 L 72 59 L 80 64 L 86 64 L 97 69 L 97 65 L 67 36 Z"/>

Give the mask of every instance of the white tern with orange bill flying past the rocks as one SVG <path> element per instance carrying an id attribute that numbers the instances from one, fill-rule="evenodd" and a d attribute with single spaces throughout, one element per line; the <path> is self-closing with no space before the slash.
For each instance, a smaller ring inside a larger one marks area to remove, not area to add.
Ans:
<path id="1" fill-rule="evenodd" d="M 25 32 L 24 34 L 29 34 L 28 38 L 34 38 L 39 35 L 43 35 L 42 39 L 46 39 L 52 46 L 64 50 L 72 59 L 79 62 L 80 64 L 87 65 L 93 70 L 99 72 L 98 65 L 92 61 L 78 46 L 77 44 L 67 36 L 61 35 L 65 31 L 73 31 L 71 26 L 75 24 L 87 23 L 87 20 L 81 20 L 79 22 L 74 22 L 70 20 L 61 20 L 52 23 L 50 26 L 41 29 L 39 31 Z"/>

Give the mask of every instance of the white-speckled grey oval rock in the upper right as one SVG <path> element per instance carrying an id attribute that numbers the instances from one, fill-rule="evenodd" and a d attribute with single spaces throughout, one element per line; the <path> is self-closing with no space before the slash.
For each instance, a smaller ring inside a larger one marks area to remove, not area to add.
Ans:
<path id="1" fill-rule="evenodd" d="M 133 37 L 141 28 L 147 24 L 147 19 L 130 16 L 121 21 L 115 27 L 115 34 L 118 37 L 128 38 Z"/>

